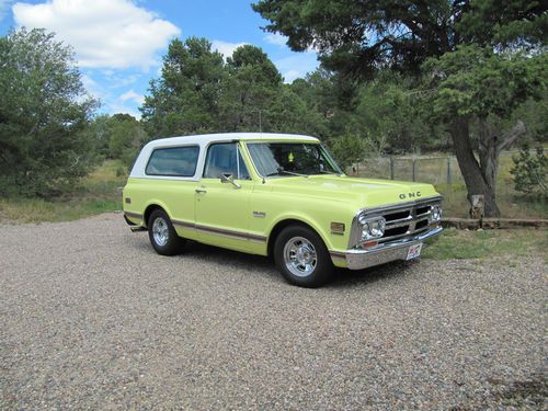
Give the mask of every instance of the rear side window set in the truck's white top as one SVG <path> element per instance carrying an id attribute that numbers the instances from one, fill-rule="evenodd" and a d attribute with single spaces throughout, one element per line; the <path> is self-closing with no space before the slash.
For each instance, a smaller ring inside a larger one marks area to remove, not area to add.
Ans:
<path id="1" fill-rule="evenodd" d="M 198 146 L 158 148 L 152 151 L 145 172 L 148 175 L 193 176 L 198 152 Z"/>

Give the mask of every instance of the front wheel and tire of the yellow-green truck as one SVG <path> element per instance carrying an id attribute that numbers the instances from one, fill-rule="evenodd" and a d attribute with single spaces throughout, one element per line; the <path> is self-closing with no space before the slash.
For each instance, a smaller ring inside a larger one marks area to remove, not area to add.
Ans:
<path id="1" fill-rule="evenodd" d="M 282 230 L 274 242 L 274 262 L 289 284 L 300 287 L 320 287 L 333 274 L 333 263 L 323 240 L 304 226 Z"/>

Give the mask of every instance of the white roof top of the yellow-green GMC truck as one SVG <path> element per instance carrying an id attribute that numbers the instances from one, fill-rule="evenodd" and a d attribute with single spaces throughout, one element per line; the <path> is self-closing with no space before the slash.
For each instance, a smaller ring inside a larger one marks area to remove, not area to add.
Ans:
<path id="1" fill-rule="evenodd" d="M 152 140 L 147 146 L 165 147 L 179 146 L 181 144 L 198 144 L 207 146 L 212 141 L 231 141 L 231 140 L 306 140 L 319 141 L 316 137 L 304 136 L 298 134 L 282 134 L 282 133 L 217 133 L 217 134 L 198 134 L 194 136 L 179 136 L 159 138 Z"/>

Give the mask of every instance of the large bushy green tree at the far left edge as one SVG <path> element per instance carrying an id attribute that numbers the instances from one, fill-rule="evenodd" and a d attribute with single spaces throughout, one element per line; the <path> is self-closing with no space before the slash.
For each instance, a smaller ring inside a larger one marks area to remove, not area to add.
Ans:
<path id="1" fill-rule="evenodd" d="M 95 158 L 83 130 L 98 103 L 70 47 L 44 30 L 0 37 L 0 193 L 49 196 L 85 175 Z"/>

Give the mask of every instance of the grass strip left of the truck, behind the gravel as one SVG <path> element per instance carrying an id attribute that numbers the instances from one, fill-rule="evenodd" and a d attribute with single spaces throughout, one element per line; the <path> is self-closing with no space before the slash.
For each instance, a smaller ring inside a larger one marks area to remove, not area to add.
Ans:
<path id="1" fill-rule="evenodd" d="M 60 198 L 0 199 L 0 222 L 70 221 L 122 209 L 127 175 L 119 174 L 119 161 L 105 161 L 83 179 L 73 192 Z"/>

